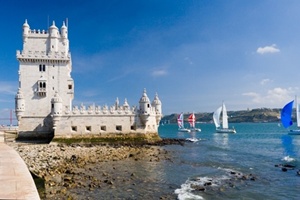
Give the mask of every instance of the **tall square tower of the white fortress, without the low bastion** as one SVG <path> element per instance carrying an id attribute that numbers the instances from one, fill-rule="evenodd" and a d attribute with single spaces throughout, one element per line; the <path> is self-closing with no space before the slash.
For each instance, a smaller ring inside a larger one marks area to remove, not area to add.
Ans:
<path id="1" fill-rule="evenodd" d="M 51 100 L 56 93 L 61 107 L 72 107 L 74 82 L 69 52 L 68 29 L 55 23 L 48 31 L 30 29 L 23 24 L 23 50 L 17 51 L 19 89 L 16 95 L 16 116 L 19 132 L 52 130 Z"/>

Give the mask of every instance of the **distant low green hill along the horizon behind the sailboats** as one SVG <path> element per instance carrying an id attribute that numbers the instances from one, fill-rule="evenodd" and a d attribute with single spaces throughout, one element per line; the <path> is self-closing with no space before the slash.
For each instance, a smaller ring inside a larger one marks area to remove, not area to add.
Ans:
<path id="1" fill-rule="evenodd" d="M 281 109 L 274 108 L 257 108 L 252 110 L 227 111 L 228 122 L 279 122 Z M 294 110 L 295 113 L 295 110 Z M 162 122 L 177 123 L 179 113 L 166 115 L 162 118 Z M 187 120 L 190 113 L 184 113 L 184 119 Z M 212 123 L 213 113 L 195 113 L 196 121 L 203 123 Z M 294 115 L 295 116 L 295 115 Z M 295 119 L 294 119 L 295 120 Z"/>

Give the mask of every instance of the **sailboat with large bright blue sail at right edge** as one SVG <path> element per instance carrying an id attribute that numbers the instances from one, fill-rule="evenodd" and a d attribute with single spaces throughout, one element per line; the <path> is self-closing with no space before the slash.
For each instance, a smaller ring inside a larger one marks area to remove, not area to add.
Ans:
<path id="1" fill-rule="evenodd" d="M 297 103 L 297 97 L 295 98 L 296 100 L 296 119 L 297 119 L 297 127 L 298 129 L 295 130 L 290 130 L 288 132 L 289 135 L 300 135 L 300 113 L 299 113 L 299 104 Z M 292 112 L 293 112 L 293 104 L 294 104 L 294 100 L 287 103 L 281 110 L 281 123 L 283 125 L 284 128 L 288 128 L 290 126 L 293 125 L 293 121 L 292 121 Z"/>

